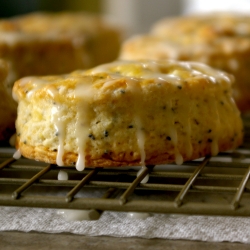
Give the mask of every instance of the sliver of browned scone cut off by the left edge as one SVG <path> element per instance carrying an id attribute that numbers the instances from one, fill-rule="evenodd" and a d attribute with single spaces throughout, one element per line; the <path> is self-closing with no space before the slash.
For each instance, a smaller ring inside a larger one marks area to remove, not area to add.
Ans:
<path id="1" fill-rule="evenodd" d="M 8 75 L 8 66 L 0 60 L 0 145 L 6 144 L 15 133 L 16 103 L 9 97 L 3 82 Z"/>

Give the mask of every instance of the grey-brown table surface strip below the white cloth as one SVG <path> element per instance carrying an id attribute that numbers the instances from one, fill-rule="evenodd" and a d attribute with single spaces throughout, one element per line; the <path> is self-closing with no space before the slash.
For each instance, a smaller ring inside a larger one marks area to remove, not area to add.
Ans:
<path id="1" fill-rule="evenodd" d="M 0 232 L 0 249 L 29 250 L 29 249 L 185 249 L 185 250 L 249 250 L 250 244 L 242 243 L 215 243 L 185 240 L 142 239 L 142 238 L 115 238 L 90 237 L 73 234 L 44 234 L 37 232 Z"/>

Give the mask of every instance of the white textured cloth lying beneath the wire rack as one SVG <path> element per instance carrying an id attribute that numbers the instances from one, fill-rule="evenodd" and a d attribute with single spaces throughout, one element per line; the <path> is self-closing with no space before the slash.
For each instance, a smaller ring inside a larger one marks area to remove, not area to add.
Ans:
<path id="1" fill-rule="evenodd" d="M 250 243 L 250 218 L 245 217 L 152 214 L 131 219 L 127 213 L 106 211 L 97 221 L 67 222 L 55 209 L 0 207 L 0 231 L 12 230 Z"/>

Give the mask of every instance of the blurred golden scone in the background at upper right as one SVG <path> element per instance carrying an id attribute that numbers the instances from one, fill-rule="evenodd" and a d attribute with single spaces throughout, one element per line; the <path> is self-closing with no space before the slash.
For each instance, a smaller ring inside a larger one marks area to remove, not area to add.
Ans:
<path id="1" fill-rule="evenodd" d="M 233 96 L 250 111 L 250 16 L 213 13 L 165 18 L 148 34 L 128 39 L 121 59 L 198 61 L 235 76 Z"/>

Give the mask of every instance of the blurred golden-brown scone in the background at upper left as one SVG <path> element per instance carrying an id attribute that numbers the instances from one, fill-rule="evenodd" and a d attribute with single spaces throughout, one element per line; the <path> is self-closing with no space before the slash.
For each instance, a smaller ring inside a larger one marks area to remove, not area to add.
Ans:
<path id="1" fill-rule="evenodd" d="M 11 92 L 24 76 L 64 74 L 113 61 L 121 38 L 118 27 L 82 12 L 0 19 L 0 58 L 10 68 L 5 84 Z"/>

